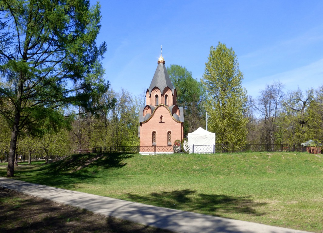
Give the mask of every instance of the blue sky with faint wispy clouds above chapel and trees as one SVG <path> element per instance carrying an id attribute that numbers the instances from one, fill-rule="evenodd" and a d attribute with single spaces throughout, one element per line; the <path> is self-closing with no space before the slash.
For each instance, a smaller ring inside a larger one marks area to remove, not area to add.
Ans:
<path id="1" fill-rule="evenodd" d="M 95 4 L 96 1 L 90 1 Z M 142 94 L 162 55 L 200 80 L 210 47 L 232 47 L 242 85 L 257 98 L 266 84 L 285 90 L 323 84 L 323 1 L 99 1 L 107 43 L 106 79 L 119 91 Z"/>

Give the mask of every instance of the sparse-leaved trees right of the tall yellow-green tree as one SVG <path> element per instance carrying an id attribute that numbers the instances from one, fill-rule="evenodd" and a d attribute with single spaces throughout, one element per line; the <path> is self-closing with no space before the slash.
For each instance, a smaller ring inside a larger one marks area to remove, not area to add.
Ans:
<path id="1" fill-rule="evenodd" d="M 266 85 L 257 101 L 247 102 L 248 143 L 323 142 L 323 86 L 284 92 L 280 82 Z"/>

